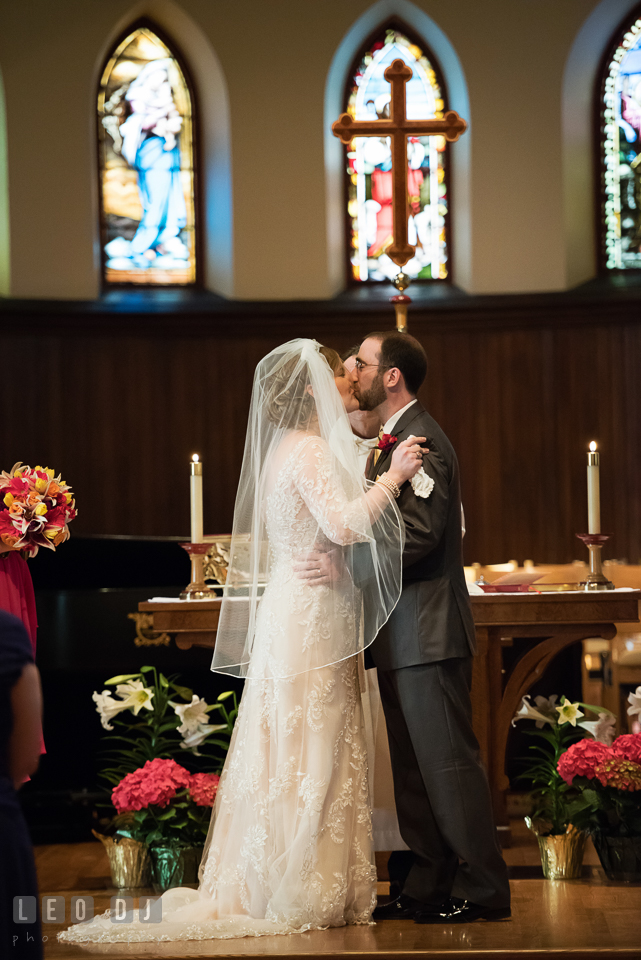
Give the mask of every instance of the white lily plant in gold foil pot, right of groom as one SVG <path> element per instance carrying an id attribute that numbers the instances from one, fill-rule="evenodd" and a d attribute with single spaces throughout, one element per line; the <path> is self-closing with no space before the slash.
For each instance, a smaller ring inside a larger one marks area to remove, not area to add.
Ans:
<path id="1" fill-rule="evenodd" d="M 537 742 L 530 748 L 534 756 L 526 761 L 521 774 L 532 786 L 535 808 L 525 821 L 536 834 L 541 854 L 543 876 L 549 880 L 572 880 L 581 876 L 585 832 L 585 803 L 580 791 L 559 773 L 559 760 L 567 750 L 581 742 L 611 743 L 616 717 L 603 707 L 580 702 L 571 703 L 556 694 L 536 697 L 534 705 L 523 697 L 521 707 L 512 720 L 533 720 L 535 729 L 526 731 Z M 587 719 L 587 710 L 596 719 Z M 590 737 L 586 739 L 586 734 Z"/>

